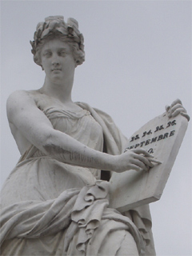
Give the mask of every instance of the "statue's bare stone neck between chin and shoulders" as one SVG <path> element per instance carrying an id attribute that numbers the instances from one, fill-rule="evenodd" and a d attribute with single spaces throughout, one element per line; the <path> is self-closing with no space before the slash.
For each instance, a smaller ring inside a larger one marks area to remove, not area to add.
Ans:
<path id="1" fill-rule="evenodd" d="M 45 78 L 45 82 L 40 90 L 43 94 L 57 98 L 63 103 L 69 103 L 72 102 L 71 91 L 73 83 L 74 79 L 70 79 L 70 81 L 53 82 Z"/>

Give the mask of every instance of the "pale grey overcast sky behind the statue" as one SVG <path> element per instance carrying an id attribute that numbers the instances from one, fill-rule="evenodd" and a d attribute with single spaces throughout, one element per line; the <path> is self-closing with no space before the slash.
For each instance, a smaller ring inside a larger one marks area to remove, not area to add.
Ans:
<path id="1" fill-rule="evenodd" d="M 50 15 L 76 18 L 85 38 L 74 101 L 106 111 L 127 137 L 176 98 L 192 116 L 190 1 L 1 1 L 1 183 L 20 157 L 6 99 L 42 86 L 30 40 Z M 162 198 L 151 204 L 158 256 L 192 254 L 191 201 L 190 122 Z"/>

